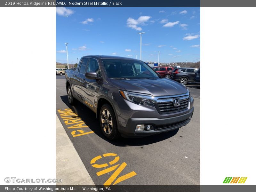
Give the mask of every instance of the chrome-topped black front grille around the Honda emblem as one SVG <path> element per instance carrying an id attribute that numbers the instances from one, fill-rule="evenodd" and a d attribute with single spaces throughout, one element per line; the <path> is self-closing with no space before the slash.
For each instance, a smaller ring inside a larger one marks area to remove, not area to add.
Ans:
<path id="1" fill-rule="evenodd" d="M 175 107 L 173 105 L 173 99 L 180 99 L 180 105 Z M 164 98 L 157 100 L 157 108 L 160 114 L 176 113 L 179 111 L 186 110 L 188 108 L 188 95 L 173 98 Z"/>

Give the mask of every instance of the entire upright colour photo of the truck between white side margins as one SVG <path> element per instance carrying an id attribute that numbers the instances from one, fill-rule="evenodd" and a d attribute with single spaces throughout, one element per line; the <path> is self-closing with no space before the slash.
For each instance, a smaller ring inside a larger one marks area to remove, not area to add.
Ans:
<path id="1" fill-rule="evenodd" d="M 57 185 L 200 185 L 200 8 L 56 8 Z"/>

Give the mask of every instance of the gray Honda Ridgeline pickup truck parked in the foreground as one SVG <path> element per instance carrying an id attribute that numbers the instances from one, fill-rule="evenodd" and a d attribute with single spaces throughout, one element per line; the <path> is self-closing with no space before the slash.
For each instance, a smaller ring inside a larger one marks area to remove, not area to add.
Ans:
<path id="1" fill-rule="evenodd" d="M 76 99 L 95 112 L 110 140 L 179 129 L 193 116 L 188 89 L 162 78 L 141 60 L 84 56 L 65 77 L 69 104 Z"/>

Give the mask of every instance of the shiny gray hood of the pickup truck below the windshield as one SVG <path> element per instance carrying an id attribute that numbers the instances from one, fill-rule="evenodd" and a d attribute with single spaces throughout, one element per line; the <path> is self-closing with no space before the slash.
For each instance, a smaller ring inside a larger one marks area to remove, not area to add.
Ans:
<path id="1" fill-rule="evenodd" d="M 117 87 L 126 91 L 150 94 L 153 96 L 178 95 L 187 93 L 187 88 L 171 79 L 110 79 Z"/>

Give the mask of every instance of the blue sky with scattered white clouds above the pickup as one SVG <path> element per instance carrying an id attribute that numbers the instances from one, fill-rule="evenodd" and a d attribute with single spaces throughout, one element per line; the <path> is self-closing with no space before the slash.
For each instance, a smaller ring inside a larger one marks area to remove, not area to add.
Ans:
<path id="1" fill-rule="evenodd" d="M 116 55 L 157 62 L 200 60 L 199 7 L 57 7 L 56 61 Z"/>

